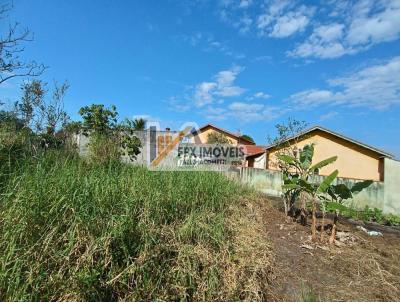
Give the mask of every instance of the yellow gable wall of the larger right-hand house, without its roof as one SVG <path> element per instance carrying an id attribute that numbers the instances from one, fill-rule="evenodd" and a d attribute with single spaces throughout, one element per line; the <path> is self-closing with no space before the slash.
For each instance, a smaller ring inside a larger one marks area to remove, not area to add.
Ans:
<path id="1" fill-rule="evenodd" d="M 339 177 L 383 180 L 382 164 L 377 153 L 323 131 L 310 133 L 293 146 L 302 149 L 311 143 L 315 145 L 313 164 L 332 156 L 338 157 L 336 162 L 322 168 L 320 175 L 326 176 L 338 169 Z M 279 170 L 276 155 L 277 150 L 269 152 L 268 169 Z"/>

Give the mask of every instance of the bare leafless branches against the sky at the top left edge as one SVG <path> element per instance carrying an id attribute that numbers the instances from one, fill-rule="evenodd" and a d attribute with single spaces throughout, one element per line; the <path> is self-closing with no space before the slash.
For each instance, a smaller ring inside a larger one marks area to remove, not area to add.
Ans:
<path id="1" fill-rule="evenodd" d="M 0 5 L 0 22 L 6 23 L 10 4 Z M 1 26 L 5 28 L 5 24 Z M 0 85 L 15 77 L 36 77 L 41 75 L 46 66 L 36 61 L 24 61 L 20 55 L 24 51 L 23 44 L 33 41 L 33 35 L 28 29 L 19 29 L 19 24 L 9 25 L 0 36 Z"/>

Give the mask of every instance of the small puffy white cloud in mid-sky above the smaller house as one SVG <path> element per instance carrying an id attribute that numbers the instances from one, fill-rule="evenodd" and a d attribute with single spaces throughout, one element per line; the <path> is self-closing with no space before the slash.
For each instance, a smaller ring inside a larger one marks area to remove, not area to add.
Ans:
<path id="1" fill-rule="evenodd" d="M 245 92 L 244 88 L 234 85 L 234 82 L 243 68 L 233 66 L 229 70 L 218 72 L 213 77 L 213 82 L 202 82 L 197 84 L 193 100 L 197 107 L 203 107 L 215 102 L 216 97 L 240 96 Z"/>

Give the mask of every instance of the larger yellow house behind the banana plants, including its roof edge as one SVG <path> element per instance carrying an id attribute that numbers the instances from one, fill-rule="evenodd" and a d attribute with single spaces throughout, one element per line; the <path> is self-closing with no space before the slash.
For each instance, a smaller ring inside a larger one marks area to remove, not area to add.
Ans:
<path id="1" fill-rule="evenodd" d="M 337 156 L 335 163 L 319 171 L 324 176 L 338 169 L 339 177 L 383 181 L 384 159 L 393 158 L 389 153 L 320 126 L 306 130 L 286 142 L 292 150 L 294 148 L 298 151 L 305 145 L 314 144 L 313 163 Z M 267 169 L 279 170 L 276 158 L 279 150 L 275 145 L 267 147 Z"/>

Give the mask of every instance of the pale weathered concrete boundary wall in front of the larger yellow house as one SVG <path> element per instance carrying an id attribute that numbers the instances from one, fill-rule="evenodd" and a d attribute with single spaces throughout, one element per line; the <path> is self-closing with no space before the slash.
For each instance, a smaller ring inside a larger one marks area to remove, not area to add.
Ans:
<path id="1" fill-rule="evenodd" d="M 346 201 L 347 205 L 358 209 L 369 206 L 381 209 L 384 213 L 400 215 L 400 162 L 388 160 L 385 164 L 385 171 L 388 172 L 385 174 L 385 182 L 373 182 L 368 188 L 355 195 L 353 200 Z M 323 176 L 316 176 L 316 180 L 321 181 L 322 179 Z M 282 173 L 280 171 L 246 167 L 241 169 L 240 180 L 260 192 L 272 196 L 282 196 Z M 359 181 L 338 178 L 335 184 L 344 183 L 352 187 Z"/>

